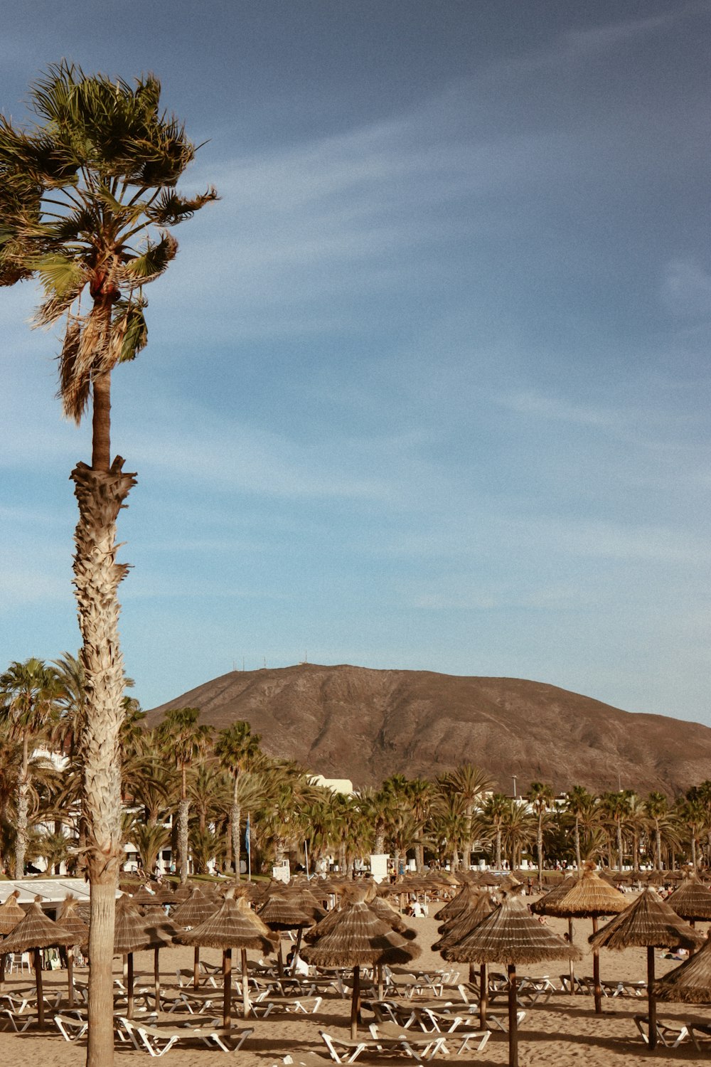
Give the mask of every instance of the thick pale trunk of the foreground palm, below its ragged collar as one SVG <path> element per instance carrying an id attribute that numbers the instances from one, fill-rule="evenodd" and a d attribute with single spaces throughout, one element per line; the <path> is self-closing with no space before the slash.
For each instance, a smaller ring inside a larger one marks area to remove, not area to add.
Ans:
<path id="1" fill-rule="evenodd" d="M 102 432 L 108 440 L 106 427 Z M 123 463 L 117 457 L 108 471 L 79 463 L 71 472 L 80 513 L 75 531 L 74 584 L 86 685 L 81 735 L 91 891 L 86 1067 L 111 1067 L 114 1052 L 111 965 L 116 889 L 124 857 L 119 730 L 125 681 L 117 590 L 127 570 L 126 564 L 115 560 L 116 516 L 135 483 L 133 475 L 123 473 Z"/>

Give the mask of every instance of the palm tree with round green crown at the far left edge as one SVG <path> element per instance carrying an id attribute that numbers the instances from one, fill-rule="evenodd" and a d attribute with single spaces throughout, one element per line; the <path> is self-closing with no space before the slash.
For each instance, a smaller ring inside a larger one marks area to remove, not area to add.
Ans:
<path id="1" fill-rule="evenodd" d="M 36 740 L 47 728 L 56 711 L 60 685 L 56 671 L 42 659 L 31 657 L 25 663 L 15 660 L 0 674 L 0 719 L 4 720 L 7 736 L 21 747 L 21 761 L 17 775 L 17 835 L 15 839 L 15 877 L 25 873 L 25 851 L 28 842 L 28 809 L 30 798 L 30 743 Z"/>

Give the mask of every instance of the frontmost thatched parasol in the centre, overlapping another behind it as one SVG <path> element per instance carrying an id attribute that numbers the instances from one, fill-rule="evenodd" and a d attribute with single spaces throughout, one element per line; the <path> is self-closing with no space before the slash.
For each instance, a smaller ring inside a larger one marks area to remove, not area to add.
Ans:
<path id="1" fill-rule="evenodd" d="M 334 920 L 334 914 L 336 919 Z M 325 931 L 324 931 L 325 930 Z M 378 919 L 365 901 L 353 901 L 337 912 L 330 912 L 309 930 L 308 944 L 302 955 L 314 967 L 352 967 L 353 998 L 351 1001 L 351 1036 L 358 1032 L 360 1010 L 360 967 L 378 964 L 408 964 L 420 955 L 420 949 L 395 934 L 389 923 Z"/>

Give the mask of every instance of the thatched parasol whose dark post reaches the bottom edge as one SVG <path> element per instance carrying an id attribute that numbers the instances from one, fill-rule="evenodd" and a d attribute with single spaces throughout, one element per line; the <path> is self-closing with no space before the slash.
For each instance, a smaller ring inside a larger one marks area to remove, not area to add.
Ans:
<path id="1" fill-rule="evenodd" d="M 505 898 L 501 907 L 474 926 L 458 944 L 445 949 L 445 959 L 453 962 L 505 964 L 508 973 L 508 1065 L 518 1067 L 518 1003 L 516 966 L 550 959 L 579 958 L 579 951 L 542 926 L 529 913 L 520 895 Z"/>

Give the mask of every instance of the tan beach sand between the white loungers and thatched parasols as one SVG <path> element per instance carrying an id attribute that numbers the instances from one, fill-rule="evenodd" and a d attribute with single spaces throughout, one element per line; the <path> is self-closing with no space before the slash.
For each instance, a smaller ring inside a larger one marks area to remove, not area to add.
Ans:
<path id="1" fill-rule="evenodd" d="M 631 899 L 632 897 L 630 897 Z M 411 920 L 419 931 L 418 943 L 422 946 L 422 956 L 417 966 L 448 967 L 437 953 L 430 951 L 430 945 L 437 940 L 437 923 L 434 919 Z M 567 923 L 560 920 L 549 920 L 551 928 L 562 933 L 567 929 Z M 706 927 L 702 927 L 706 931 Z M 575 941 L 579 947 L 586 951 L 586 938 L 592 930 L 589 921 L 578 920 L 575 927 Z M 252 956 L 253 954 L 251 954 Z M 664 974 L 670 968 L 678 966 L 673 960 L 662 958 L 662 953 L 658 952 L 657 971 L 658 975 Z M 208 962 L 219 964 L 221 954 L 211 950 L 203 950 L 200 957 Z M 600 956 L 601 976 L 603 980 L 643 980 L 646 975 L 646 952 L 644 949 L 628 950 L 624 953 L 608 952 L 603 950 Z M 119 960 L 115 960 L 116 974 L 120 973 Z M 192 967 L 192 950 L 190 949 L 168 949 L 161 954 L 161 974 L 165 985 L 176 982 L 176 968 Z M 462 977 L 466 977 L 466 966 L 462 969 Z M 567 964 L 549 964 L 538 967 L 521 968 L 532 975 L 549 974 L 559 983 L 559 975 L 567 971 Z M 576 965 L 579 974 L 592 974 L 592 960 L 587 954 L 585 958 Z M 136 953 L 135 972 L 138 976 L 143 976 L 143 982 L 149 985 L 152 981 L 152 954 Z M 46 986 L 66 986 L 66 971 L 45 972 Z M 86 972 L 79 971 L 79 981 L 85 981 Z M 141 981 L 141 978 L 139 978 Z M 5 989 L 13 987 L 28 986 L 27 974 L 22 976 L 11 975 L 5 982 Z M 456 991 L 453 991 L 449 999 L 455 999 Z M 448 998 L 446 998 L 448 999 Z M 505 1002 L 501 1002 L 503 1006 Z M 704 1019 L 711 1022 L 711 1006 L 699 1008 L 696 1006 L 685 1006 L 683 1004 L 660 1004 L 659 1017 L 661 1020 L 685 1020 L 689 1018 Z M 321 1004 L 321 1009 L 317 1015 L 279 1015 L 268 1019 L 251 1019 L 247 1023 L 254 1026 L 254 1034 L 244 1044 L 238 1058 L 241 1067 L 272 1067 L 279 1065 L 284 1057 L 291 1055 L 294 1067 L 320 1067 L 329 1063 L 326 1058 L 326 1049 L 319 1037 L 319 1030 L 337 1031 L 342 1036 L 348 1036 L 350 1003 L 336 997 L 329 997 Z M 643 1045 L 633 1016 L 646 1013 L 645 999 L 620 999 L 605 998 L 603 1000 L 602 1017 L 595 1016 L 592 998 L 576 996 L 570 997 L 563 992 L 555 992 L 544 1006 L 534 1006 L 529 1009 L 519 1031 L 519 1061 L 521 1067 L 566 1067 L 568 1064 L 582 1063 L 586 1067 L 641 1067 L 648 1064 L 652 1053 L 648 1052 Z M 215 1015 L 219 1013 L 214 1013 Z M 169 1021 L 169 1016 L 164 1017 Z M 367 1034 L 366 1023 L 371 1016 L 363 1013 L 363 1034 Z M 9 1024 L 9 1023 L 7 1023 Z M 0 1022 L 0 1026 L 3 1025 Z M 236 1025 L 243 1025 L 238 1019 Z M 678 1049 L 672 1050 L 658 1047 L 656 1055 L 669 1062 L 683 1062 L 686 1064 L 708 1064 L 707 1054 L 695 1051 L 690 1041 L 685 1041 Z M 59 1034 L 52 1030 L 47 1030 L 46 1034 L 39 1035 L 28 1031 L 26 1034 L 0 1031 L 0 1064 L 15 1063 L 36 1063 L 42 1067 L 78 1067 L 85 1062 L 86 1049 L 84 1042 L 67 1044 Z M 476 1063 L 485 1065 L 507 1064 L 507 1035 L 495 1032 L 482 1053 L 475 1057 Z M 368 1057 L 365 1057 L 368 1058 Z M 442 1057 L 437 1057 L 441 1061 Z M 455 1058 L 455 1057 L 450 1057 Z M 458 1062 L 474 1062 L 474 1057 L 464 1055 Z M 147 1053 L 136 1052 L 134 1049 L 117 1047 L 116 1063 L 126 1067 L 132 1065 L 144 1065 L 151 1062 Z M 220 1051 L 211 1051 L 207 1048 L 191 1047 L 189 1049 L 173 1048 L 166 1057 L 166 1063 L 173 1067 L 216 1067 L 224 1064 L 225 1054 Z M 394 1061 L 388 1057 L 386 1063 L 406 1062 L 403 1057 Z M 411 1061 L 410 1061 L 411 1062 Z"/>

